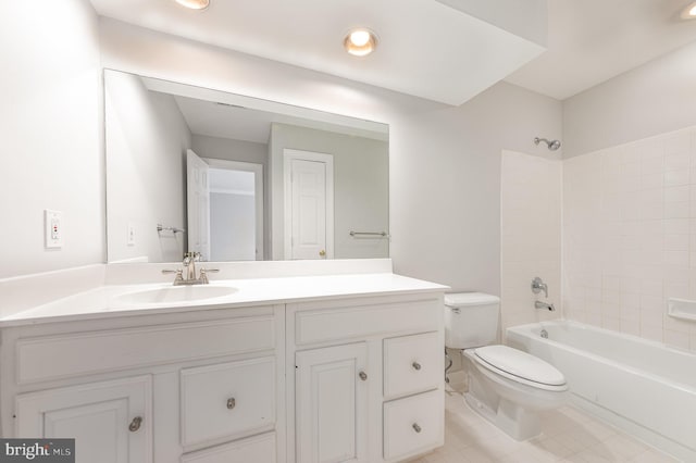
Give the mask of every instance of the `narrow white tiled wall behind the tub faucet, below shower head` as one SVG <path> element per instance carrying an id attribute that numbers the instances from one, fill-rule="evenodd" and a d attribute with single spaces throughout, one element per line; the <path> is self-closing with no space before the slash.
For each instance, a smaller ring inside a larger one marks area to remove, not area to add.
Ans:
<path id="1" fill-rule="evenodd" d="M 548 157 L 550 158 L 550 157 Z M 561 160 L 502 152 L 500 284 L 502 334 L 509 326 L 561 317 Z M 548 285 L 534 295 L 531 283 Z M 552 303 L 555 312 L 534 308 Z"/>

